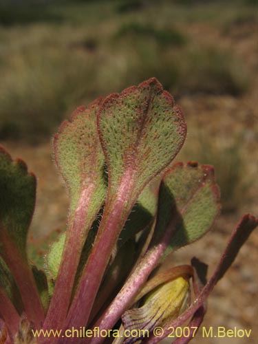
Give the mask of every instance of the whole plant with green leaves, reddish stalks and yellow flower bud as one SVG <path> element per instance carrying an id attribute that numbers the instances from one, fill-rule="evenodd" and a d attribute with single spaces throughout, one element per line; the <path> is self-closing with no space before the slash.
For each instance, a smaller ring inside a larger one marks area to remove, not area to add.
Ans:
<path id="1" fill-rule="evenodd" d="M 106 340 L 32 335 L 81 326 L 118 333 L 116 343 L 156 343 L 171 326 L 200 326 L 208 294 L 257 219 L 240 220 L 208 282 L 197 259 L 156 269 L 205 235 L 219 214 L 213 167 L 173 164 L 185 137 L 182 110 L 155 78 L 77 109 L 54 136 L 56 166 L 70 197 L 67 229 L 42 249 L 28 241 L 34 175 L 0 150 L 1 343 Z M 47 251 L 44 262 L 42 252 L 36 257 L 40 250 Z M 153 334 L 157 326 L 164 329 L 160 338 Z M 139 329 L 149 338 L 123 336 Z"/>

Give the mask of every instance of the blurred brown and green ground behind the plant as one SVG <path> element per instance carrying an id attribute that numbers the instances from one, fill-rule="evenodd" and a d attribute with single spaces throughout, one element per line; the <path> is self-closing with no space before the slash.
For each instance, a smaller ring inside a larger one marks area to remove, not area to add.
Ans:
<path id="1" fill-rule="evenodd" d="M 214 268 L 239 217 L 257 213 L 257 5 L 0 0 L 0 140 L 37 175 L 34 236 L 65 228 L 68 200 L 51 144 L 61 120 L 98 96 L 155 76 L 188 123 L 177 160 L 213 164 L 223 206 L 212 232 L 168 264 L 195 255 Z M 215 288 L 204 322 L 252 329 L 251 338 L 200 333 L 193 343 L 257 343 L 257 246 L 254 233 Z"/>

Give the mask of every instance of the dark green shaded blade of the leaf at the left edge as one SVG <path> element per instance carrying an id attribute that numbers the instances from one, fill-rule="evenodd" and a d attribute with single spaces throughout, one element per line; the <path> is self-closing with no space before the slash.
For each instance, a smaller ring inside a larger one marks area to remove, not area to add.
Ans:
<path id="1" fill-rule="evenodd" d="M 0 147 L 0 255 L 8 252 L 6 240 L 27 259 L 26 242 L 28 228 L 34 212 L 36 179 L 28 173 L 25 163 L 12 161 L 5 149 Z"/>

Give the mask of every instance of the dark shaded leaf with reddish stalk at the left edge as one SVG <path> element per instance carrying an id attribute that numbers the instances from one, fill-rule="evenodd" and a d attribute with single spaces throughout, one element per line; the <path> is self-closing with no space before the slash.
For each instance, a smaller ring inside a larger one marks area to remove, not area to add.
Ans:
<path id="1" fill-rule="evenodd" d="M 36 178 L 25 162 L 13 161 L 0 147 L 0 256 L 17 283 L 28 319 L 39 325 L 44 312 L 26 252 L 35 195 Z"/>

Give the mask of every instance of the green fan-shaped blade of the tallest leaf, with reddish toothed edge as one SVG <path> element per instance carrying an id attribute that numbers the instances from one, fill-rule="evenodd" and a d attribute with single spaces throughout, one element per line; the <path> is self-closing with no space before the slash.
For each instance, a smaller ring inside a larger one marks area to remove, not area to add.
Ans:
<path id="1" fill-rule="evenodd" d="M 130 171 L 135 197 L 178 153 L 186 123 L 171 94 L 151 78 L 107 97 L 98 113 L 98 130 L 111 194 Z"/>

